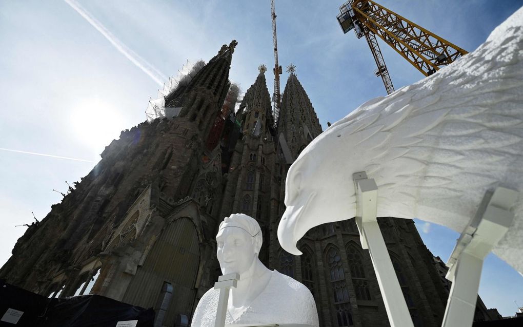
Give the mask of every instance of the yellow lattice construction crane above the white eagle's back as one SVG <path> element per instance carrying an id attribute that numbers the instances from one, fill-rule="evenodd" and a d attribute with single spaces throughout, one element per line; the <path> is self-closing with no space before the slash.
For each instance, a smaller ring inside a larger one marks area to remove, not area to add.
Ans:
<path id="1" fill-rule="evenodd" d="M 383 60 L 376 36 L 389 44 L 423 75 L 429 76 L 442 66 L 468 52 L 414 24 L 371 0 L 349 0 L 339 7 L 336 16 L 344 33 L 354 29 L 358 39 L 365 37 L 388 94 L 394 92 L 389 71 Z"/>

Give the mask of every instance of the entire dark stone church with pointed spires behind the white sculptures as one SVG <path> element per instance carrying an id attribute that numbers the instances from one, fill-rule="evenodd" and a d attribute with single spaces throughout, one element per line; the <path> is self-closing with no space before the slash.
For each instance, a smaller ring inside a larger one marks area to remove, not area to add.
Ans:
<path id="1" fill-rule="evenodd" d="M 260 260 L 311 290 L 320 326 L 388 326 L 354 220 L 309 231 L 298 243 L 302 256 L 279 246 L 287 170 L 322 127 L 293 66 L 277 125 L 263 65 L 235 112 L 235 46 L 224 45 L 165 97 L 166 107 L 182 108 L 177 117 L 141 123 L 112 141 L 18 240 L 0 278 L 49 297 L 98 294 L 152 307 L 158 326 L 188 325 L 221 274 L 218 225 L 242 212 L 260 224 Z M 415 325 L 439 326 L 448 284 L 414 222 L 379 223 Z"/>

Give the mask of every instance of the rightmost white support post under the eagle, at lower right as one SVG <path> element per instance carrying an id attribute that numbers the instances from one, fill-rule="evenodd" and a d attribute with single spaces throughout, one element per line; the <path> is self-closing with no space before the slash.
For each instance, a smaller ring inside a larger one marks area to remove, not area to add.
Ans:
<path id="1" fill-rule="evenodd" d="M 487 191 L 476 215 L 461 233 L 447 266 L 452 281 L 443 327 L 471 326 L 476 308 L 477 289 L 485 256 L 503 238 L 514 220 L 510 208 L 519 193 L 504 187 Z"/>

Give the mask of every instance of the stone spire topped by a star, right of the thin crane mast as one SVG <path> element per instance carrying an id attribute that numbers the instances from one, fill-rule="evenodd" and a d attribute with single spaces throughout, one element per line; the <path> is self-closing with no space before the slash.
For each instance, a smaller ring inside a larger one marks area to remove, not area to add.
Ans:
<path id="1" fill-rule="evenodd" d="M 278 134 L 285 137 L 293 159 L 322 132 L 320 120 L 295 71 L 295 65 L 287 66 L 290 74 L 283 91 L 278 119 Z"/>

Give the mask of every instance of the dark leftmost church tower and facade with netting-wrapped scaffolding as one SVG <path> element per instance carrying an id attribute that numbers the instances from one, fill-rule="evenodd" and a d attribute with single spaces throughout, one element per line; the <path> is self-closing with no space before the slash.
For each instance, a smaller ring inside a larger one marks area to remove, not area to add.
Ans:
<path id="1" fill-rule="evenodd" d="M 178 314 L 190 318 L 218 276 L 224 180 L 220 147 L 206 144 L 236 44 L 166 97 L 167 107 L 182 107 L 178 117 L 141 123 L 112 141 L 76 189 L 18 240 L 0 278 L 46 297 L 92 293 L 153 307 L 165 325 Z"/>

